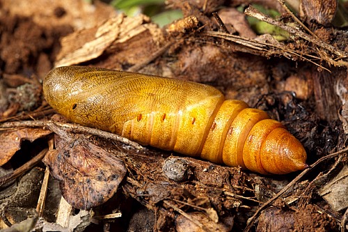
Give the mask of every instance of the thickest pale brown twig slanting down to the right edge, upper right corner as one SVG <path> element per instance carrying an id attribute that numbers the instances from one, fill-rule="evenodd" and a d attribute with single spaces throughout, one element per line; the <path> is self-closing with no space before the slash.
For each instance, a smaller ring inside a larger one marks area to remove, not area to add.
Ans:
<path id="1" fill-rule="evenodd" d="M 322 47 L 322 48 L 328 50 L 329 52 L 332 52 L 333 54 L 336 54 L 337 56 L 339 56 L 338 57 L 339 59 L 344 59 L 344 58 L 348 57 L 347 52 L 340 51 L 340 49 L 338 49 L 337 47 L 333 47 L 332 45 L 329 45 L 326 42 L 323 42 L 322 40 L 319 40 L 317 38 L 313 38 L 313 37 L 309 36 L 308 34 L 303 33 L 303 31 L 300 31 L 299 29 L 296 29 L 292 26 L 287 26 L 286 24 L 283 24 L 283 22 L 278 22 L 278 21 L 272 19 L 271 17 L 264 15 L 263 13 L 260 13 L 260 11 L 253 8 L 253 6 L 249 6 L 248 8 L 246 8 L 244 13 L 246 15 L 251 16 L 251 17 L 257 18 L 258 20 L 268 22 L 269 24 L 272 24 L 274 26 L 279 26 L 281 29 L 290 32 L 294 36 L 299 36 L 299 37 L 301 37 L 309 42 L 312 42 L 313 44 L 315 44 L 319 47 Z M 341 66 L 341 65 L 348 66 L 347 61 L 334 61 L 327 54 L 325 54 L 325 55 L 326 56 L 324 58 L 327 61 L 330 61 L 329 63 L 337 64 L 338 66 Z"/>

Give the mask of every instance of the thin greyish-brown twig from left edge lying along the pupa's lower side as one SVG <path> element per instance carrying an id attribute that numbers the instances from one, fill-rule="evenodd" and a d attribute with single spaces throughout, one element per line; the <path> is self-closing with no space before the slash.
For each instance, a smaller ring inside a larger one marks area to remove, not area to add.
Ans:
<path id="1" fill-rule="evenodd" d="M 103 137 L 105 139 L 112 139 L 114 141 L 120 141 L 123 144 L 132 146 L 138 150 L 143 150 L 143 146 L 139 145 L 134 141 L 130 141 L 124 137 L 121 137 L 117 134 L 112 134 L 109 132 L 104 132 L 102 130 L 97 130 L 90 127 L 85 127 L 83 125 L 77 125 L 72 123 L 59 123 L 54 121 L 20 121 L 20 122 L 8 122 L 0 124 L 0 128 L 19 128 L 19 127 L 51 127 L 54 125 L 58 125 L 59 127 L 63 127 L 65 130 L 70 132 L 79 132 L 79 133 L 88 133 Z M 53 131 L 53 130 L 52 130 Z"/>

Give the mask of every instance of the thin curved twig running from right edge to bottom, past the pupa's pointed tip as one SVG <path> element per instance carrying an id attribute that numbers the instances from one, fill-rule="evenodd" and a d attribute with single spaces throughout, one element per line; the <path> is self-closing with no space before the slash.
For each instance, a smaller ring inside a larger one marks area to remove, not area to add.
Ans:
<path id="1" fill-rule="evenodd" d="M 280 190 L 280 192 L 278 192 L 278 194 L 274 195 L 271 199 L 269 199 L 267 202 L 265 202 L 262 206 L 260 206 L 260 208 L 258 208 L 258 210 L 256 210 L 256 212 L 254 213 L 253 217 L 250 218 L 249 223 L 246 225 L 246 228 L 244 229 L 244 232 L 248 232 L 251 229 L 251 226 L 253 226 L 256 217 L 258 217 L 258 215 L 260 214 L 260 212 L 262 210 L 264 210 L 267 206 L 269 206 L 269 204 L 273 203 L 276 199 L 278 199 L 283 193 L 287 192 L 287 190 L 290 189 L 290 187 L 292 187 L 293 185 L 295 185 L 296 183 L 299 182 L 299 180 L 301 180 L 301 178 L 303 178 L 303 176 L 305 176 L 308 172 L 310 172 L 312 169 L 314 169 L 318 164 L 324 162 L 325 160 L 329 160 L 333 157 L 337 157 L 338 155 L 341 155 L 342 153 L 347 153 L 348 152 L 348 148 L 339 150 L 338 152 L 332 153 L 330 155 L 326 155 L 324 157 L 321 157 L 319 160 L 317 160 L 317 162 L 315 162 L 314 164 L 310 165 L 310 168 L 305 169 L 304 171 L 302 171 L 299 176 L 296 176 L 296 178 L 294 178 L 294 180 L 292 180 L 289 184 L 287 184 L 283 190 Z"/>

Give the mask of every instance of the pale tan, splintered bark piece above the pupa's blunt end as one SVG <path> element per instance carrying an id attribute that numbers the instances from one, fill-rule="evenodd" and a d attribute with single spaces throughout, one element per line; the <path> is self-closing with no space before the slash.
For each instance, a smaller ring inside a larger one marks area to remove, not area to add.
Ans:
<path id="1" fill-rule="evenodd" d="M 154 48 L 159 48 L 163 40 L 161 30 L 149 22 L 145 15 L 127 17 L 120 14 L 93 28 L 76 31 L 62 39 L 55 66 L 92 61 L 102 54 L 108 54 L 98 61 L 104 68 L 122 69 L 123 65 L 141 63 L 148 59 Z"/>

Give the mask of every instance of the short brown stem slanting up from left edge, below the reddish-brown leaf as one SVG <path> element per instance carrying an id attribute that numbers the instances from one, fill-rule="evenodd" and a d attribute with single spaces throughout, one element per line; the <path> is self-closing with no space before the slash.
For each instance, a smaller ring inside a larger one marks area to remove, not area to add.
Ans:
<path id="1" fill-rule="evenodd" d="M 40 162 L 40 160 L 42 160 L 42 158 L 46 155 L 47 150 L 48 150 L 47 148 L 41 150 L 40 153 L 38 153 L 38 155 L 33 157 L 33 159 L 29 160 L 28 162 L 23 164 L 18 169 L 15 169 L 15 171 L 13 171 L 13 173 L 10 173 L 10 174 L 5 175 L 5 176 L 1 176 L 0 177 L 0 188 L 3 187 L 4 185 L 6 185 L 7 183 L 10 183 L 12 180 L 15 180 L 17 177 L 21 176 L 24 172 L 29 171 L 36 164 L 38 164 L 38 162 Z"/>

